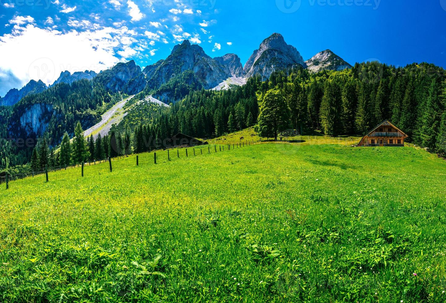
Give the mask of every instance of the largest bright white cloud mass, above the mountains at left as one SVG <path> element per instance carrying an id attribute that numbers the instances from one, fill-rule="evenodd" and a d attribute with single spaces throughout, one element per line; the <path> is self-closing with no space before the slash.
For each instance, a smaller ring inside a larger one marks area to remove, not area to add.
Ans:
<path id="1" fill-rule="evenodd" d="M 115 53 L 117 49 L 122 55 L 131 53 L 121 43 L 122 37 L 130 33 L 128 29 L 111 27 L 62 33 L 28 24 L 12 34 L 0 36 L 0 69 L 10 70 L 22 85 L 31 79 L 52 84 L 64 70 L 99 72 L 120 61 Z"/>

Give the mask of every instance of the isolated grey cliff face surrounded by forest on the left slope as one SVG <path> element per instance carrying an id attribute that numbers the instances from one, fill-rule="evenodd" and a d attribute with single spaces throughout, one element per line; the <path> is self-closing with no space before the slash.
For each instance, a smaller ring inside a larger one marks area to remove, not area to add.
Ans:
<path id="1" fill-rule="evenodd" d="M 29 106 L 20 116 L 20 125 L 27 135 L 41 136 L 45 133 L 53 115 L 51 104 L 36 103 Z"/>

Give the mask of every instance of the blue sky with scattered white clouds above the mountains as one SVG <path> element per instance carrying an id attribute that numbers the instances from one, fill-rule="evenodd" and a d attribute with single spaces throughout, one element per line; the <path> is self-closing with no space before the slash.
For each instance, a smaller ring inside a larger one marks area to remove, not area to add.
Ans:
<path id="1" fill-rule="evenodd" d="M 244 64 L 281 33 L 305 60 L 331 49 L 351 64 L 446 67 L 446 0 L 1 0 L 0 95 L 63 70 L 142 67 L 183 39 Z"/>

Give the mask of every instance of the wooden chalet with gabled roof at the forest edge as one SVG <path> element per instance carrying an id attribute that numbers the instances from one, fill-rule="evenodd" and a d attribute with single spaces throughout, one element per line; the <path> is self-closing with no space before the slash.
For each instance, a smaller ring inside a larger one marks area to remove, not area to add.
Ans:
<path id="1" fill-rule="evenodd" d="M 363 136 L 358 146 L 404 146 L 407 137 L 408 135 L 389 120 L 384 120 Z"/>

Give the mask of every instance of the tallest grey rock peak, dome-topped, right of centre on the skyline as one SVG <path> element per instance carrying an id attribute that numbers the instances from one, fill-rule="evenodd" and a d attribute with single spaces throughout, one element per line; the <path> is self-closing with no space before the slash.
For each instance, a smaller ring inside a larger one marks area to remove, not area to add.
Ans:
<path id="1" fill-rule="evenodd" d="M 281 34 L 273 33 L 249 57 L 244 73 L 247 78 L 259 74 L 262 80 L 266 80 L 275 71 L 297 65 L 304 65 L 301 54 L 294 46 L 286 44 Z"/>

